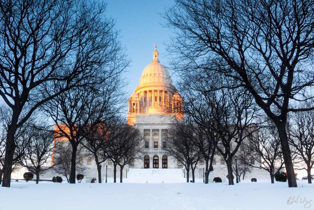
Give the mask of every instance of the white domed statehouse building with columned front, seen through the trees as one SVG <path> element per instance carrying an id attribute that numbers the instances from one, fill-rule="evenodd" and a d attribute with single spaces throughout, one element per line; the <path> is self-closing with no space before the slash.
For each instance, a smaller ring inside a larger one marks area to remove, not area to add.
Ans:
<path id="1" fill-rule="evenodd" d="M 183 165 L 174 157 L 167 155 L 167 135 L 171 132 L 170 126 L 175 120 L 184 119 L 183 99 L 179 92 L 172 84 L 169 71 L 158 60 L 158 51 L 155 46 L 153 60 L 147 65 L 139 80 L 139 85 L 131 94 L 128 100 L 128 124 L 135 126 L 141 131 L 143 139 L 143 153 L 140 159 L 124 169 L 124 177 L 130 168 L 134 169 L 182 169 L 185 176 Z M 62 138 L 54 141 L 54 148 L 62 148 L 62 145 L 68 144 Z M 83 154 L 79 157 L 78 169 L 82 168 L 85 178 L 97 178 L 97 167 L 92 154 L 79 146 Z M 52 157 L 53 160 L 53 157 Z M 257 163 L 256 163 L 257 164 Z M 113 177 L 112 161 L 106 160 L 102 163 L 102 177 Z M 195 178 L 202 179 L 204 176 L 204 161 L 199 161 L 195 170 Z M 213 171 L 209 174 L 209 180 L 213 177 L 226 179 L 228 174 L 227 166 L 224 159 L 218 154 L 215 155 L 212 163 Z M 157 171 L 157 170 L 155 170 Z M 191 173 L 191 172 L 190 172 Z M 55 176 L 54 172 L 47 173 L 46 176 Z M 117 169 L 117 177 L 120 176 L 120 170 Z M 268 173 L 262 169 L 253 168 L 250 173 L 246 174 L 246 179 L 258 178 L 267 179 Z"/>

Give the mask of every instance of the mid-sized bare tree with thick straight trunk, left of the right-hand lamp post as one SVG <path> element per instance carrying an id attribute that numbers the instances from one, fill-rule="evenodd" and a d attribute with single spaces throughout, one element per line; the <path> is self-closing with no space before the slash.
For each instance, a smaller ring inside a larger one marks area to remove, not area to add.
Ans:
<path id="1" fill-rule="evenodd" d="M 243 89 L 220 89 L 212 94 L 212 106 L 215 119 L 215 132 L 219 135 L 220 141 L 217 144 L 217 151 L 224 158 L 228 177 L 233 177 L 233 158 L 236 155 L 241 143 L 256 132 L 256 125 L 253 123 L 257 109 L 252 98 Z M 234 180 L 229 179 L 229 185 Z"/>

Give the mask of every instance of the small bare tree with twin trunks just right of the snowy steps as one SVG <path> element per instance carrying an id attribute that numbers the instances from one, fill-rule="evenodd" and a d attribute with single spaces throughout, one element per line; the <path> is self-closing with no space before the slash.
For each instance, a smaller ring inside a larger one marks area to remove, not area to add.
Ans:
<path id="1" fill-rule="evenodd" d="M 189 172 L 192 170 L 192 182 L 195 182 L 195 168 L 201 158 L 199 148 L 193 143 L 195 136 L 193 125 L 184 124 L 183 121 L 174 123 L 167 137 L 166 150 L 183 164 L 186 170 L 186 182 L 189 182 Z"/>

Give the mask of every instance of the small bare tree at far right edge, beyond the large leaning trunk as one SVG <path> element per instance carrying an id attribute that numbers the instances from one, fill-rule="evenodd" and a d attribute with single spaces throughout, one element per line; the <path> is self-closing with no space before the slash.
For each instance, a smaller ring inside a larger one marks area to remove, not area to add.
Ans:
<path id="1" fill-rule="evenodd" d="M 289 142 L 292 151 L 301 158 L 303 164 L 298 169 L 305 169 L 308 182 L 312 183 L 311 170 L 314 165 L 314 111 L 295 113 L 291 116 Z"/>

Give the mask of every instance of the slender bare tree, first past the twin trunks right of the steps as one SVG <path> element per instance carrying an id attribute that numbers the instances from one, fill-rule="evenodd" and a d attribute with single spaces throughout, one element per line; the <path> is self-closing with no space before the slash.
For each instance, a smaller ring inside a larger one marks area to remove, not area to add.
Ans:
<path id="1" fill-rule="evenodd" d="M 217 83 L 212 75 L 206 74 L 202 69 L 186 68 L 180 71 L 178 87 L 183 96 L 183 113 L 185 121 L 195 126 L 194 144 L 199 148 L 205 161 L 205 183 L 209 182 L 209 173 L 216 153 L 216 146 L 220 140 L 215 129 L 215 109 L 212 106 L 213 91 L 210 87 Z"/>

